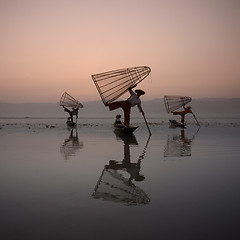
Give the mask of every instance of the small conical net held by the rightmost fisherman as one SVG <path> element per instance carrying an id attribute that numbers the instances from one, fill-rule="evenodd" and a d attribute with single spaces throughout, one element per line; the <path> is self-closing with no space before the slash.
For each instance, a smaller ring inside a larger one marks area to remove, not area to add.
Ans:
<path id="1" fill-rule="evenodd" d="M 192 98 L 186 96 L 164 96 L 164 103 L 168 113 L 183 107 L 185 104 L 191 101 Z"/>

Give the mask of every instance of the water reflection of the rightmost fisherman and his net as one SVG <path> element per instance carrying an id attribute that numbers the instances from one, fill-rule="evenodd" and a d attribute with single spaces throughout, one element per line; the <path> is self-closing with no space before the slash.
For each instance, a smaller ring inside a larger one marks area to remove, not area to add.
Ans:
<path id="1" fill-rule="evenodd" d="M 164 157 L 187 157 L 191 156 L 191 144 L 197 132 L 191 137 L 185 136 L 185 130 L 181 129 L 180 135 L 168 135 L 167 144 L 164 149 Z"/>

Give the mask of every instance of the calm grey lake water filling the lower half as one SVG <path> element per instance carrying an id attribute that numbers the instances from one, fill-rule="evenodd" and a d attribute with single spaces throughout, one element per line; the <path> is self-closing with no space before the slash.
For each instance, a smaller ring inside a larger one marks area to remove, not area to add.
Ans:
<path id="1" fill-rule="evenodd" d="M 1 125 L 2 239 L 239 237 L 239 126 L 41 121 Z"/>

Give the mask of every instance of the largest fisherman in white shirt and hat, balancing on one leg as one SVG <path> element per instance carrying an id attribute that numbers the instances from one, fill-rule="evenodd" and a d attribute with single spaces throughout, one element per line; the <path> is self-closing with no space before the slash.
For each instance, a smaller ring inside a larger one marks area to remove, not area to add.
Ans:
<path id="1" fill-rule="evenodd" d="M 130 123 L 130 112 L 131 112 L 131 107 L 138 106 L 138 109 L 141 113 L 143 113 L 142 107 L 141 107 L 141 100 L 140 96 L 144 95 L 145 92 L 141 89 L 136 89 L 135 92 L 133 92 L 133 88 L 136 87 L 137 85 L 135 84 L 134 86 L 130 87 L 128 89 L 130 93 L 130 97 L 125 100 L 125 101 L 116 101 L 113 103 L 109 103 L 107 106 L 109 107 L 109 110 L 115 110 L 117 108 L 122 108 L 124 112 L 124 125 L 126 127 L 129 127 Z M 143 113 L 144 114 L 144 113 Z"/>

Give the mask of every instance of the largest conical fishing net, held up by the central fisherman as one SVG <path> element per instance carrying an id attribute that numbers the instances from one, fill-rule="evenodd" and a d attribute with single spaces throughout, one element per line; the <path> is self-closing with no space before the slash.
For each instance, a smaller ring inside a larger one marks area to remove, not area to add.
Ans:
<path id="1" fill-rule="evenodd" d="M 138 84 L 151 72 L 150 67 L 124 68 L 92 75 L 103 104 L 113 102 L 134 84 Z"/>

